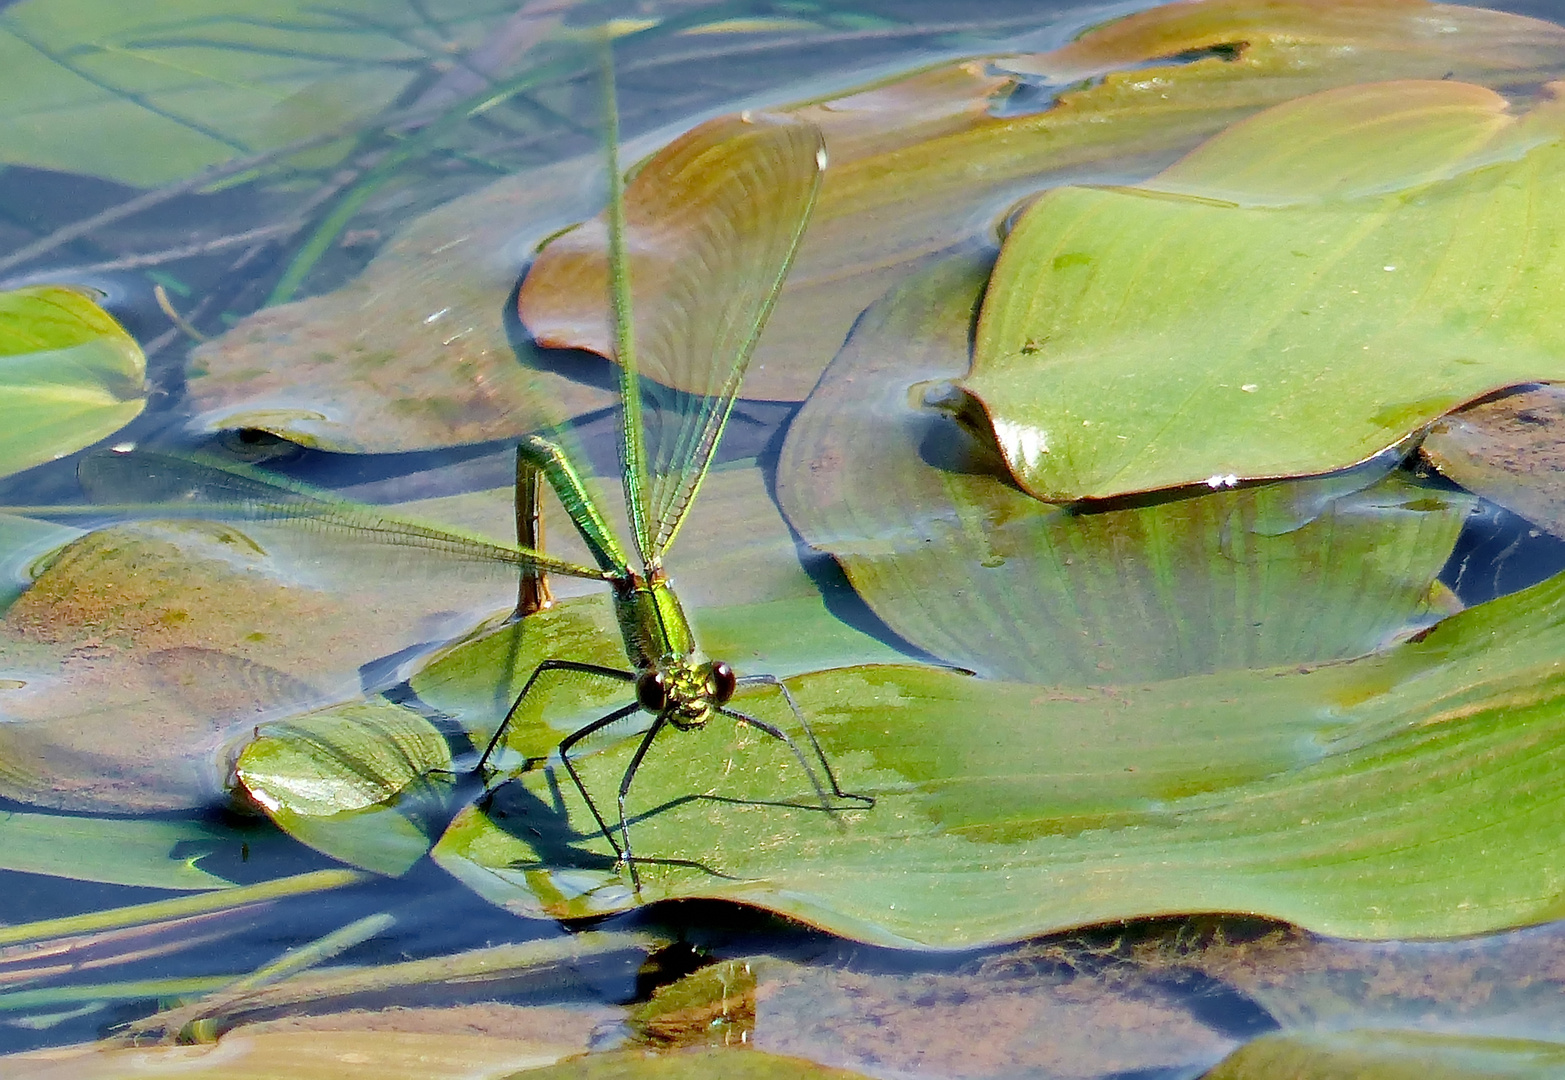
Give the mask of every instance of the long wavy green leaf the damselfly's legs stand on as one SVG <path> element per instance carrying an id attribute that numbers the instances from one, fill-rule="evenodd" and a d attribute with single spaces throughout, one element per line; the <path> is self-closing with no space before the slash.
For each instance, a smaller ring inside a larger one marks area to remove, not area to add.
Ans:
<path id="1" fill-rule="evenodd" d="M 739 900 L 833 933 L 972 947 L 1096 922 L 1244 911 L 1344 938 L 1557 917 L 1565 578 L 1321 668 L 1047 689 L 867 667 L 789 686 L 844 790 L 781 742 L 670 731 L 631 787 L 637 897 L 570 778 L 463 811 L 435 859 L 520 914 Z M 737 707 L 801 739 L 775 693 Z M 637 740 L 577 758 L 599 808 Z"/>

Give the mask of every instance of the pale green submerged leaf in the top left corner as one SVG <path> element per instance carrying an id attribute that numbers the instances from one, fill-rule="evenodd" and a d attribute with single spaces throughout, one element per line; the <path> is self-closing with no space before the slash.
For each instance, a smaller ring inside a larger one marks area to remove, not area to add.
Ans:
<path id="1" fill-rule="evenodd" d="M 441 33 L 476 42 L 493 8 L 446 5 Z M 368 119 L 416 78 L 413 6 L 239 0 L 156 6 L 23 0 L 0 14 L 9 164 L 155 186 Z"/>

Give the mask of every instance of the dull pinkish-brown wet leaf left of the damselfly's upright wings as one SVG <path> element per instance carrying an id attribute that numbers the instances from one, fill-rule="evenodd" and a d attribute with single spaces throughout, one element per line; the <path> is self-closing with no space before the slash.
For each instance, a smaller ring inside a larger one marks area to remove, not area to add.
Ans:
<path id="1" fill-rule="evenodd" d="M 388 452 L 515 437 L 612 404 L 607 390 L 545 371 L 526 349 L 518 363 L 501 318 L 529 239 L 585 213 L 595 160 L 446 203 L 352 283 L 258 311 L 197 347 L 197 426 Z M 518 235 L 495 221 L 524 224 Z"/>

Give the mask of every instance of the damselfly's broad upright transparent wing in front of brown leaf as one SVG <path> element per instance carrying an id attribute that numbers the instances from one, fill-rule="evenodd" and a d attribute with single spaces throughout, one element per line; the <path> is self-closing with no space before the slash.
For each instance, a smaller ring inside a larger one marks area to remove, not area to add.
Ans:
<path id="1" fill-rule="evenodd" d="M 634 349 L 621 355 L 642 379 L 623 398 L 628 432 L 642 413 L 637 545 L 648 567 L 662 562 L 712 462 L 825 164 L 814 124 L 728 116 L 657 153 L 624 191 L 632 271 L 621 307 L 632 311 Z"/>

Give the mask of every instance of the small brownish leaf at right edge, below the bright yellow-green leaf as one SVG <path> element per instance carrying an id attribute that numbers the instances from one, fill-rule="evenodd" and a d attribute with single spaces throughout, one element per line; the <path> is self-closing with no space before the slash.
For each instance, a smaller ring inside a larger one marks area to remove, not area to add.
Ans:
<path id="1" fill-rule="evenodd" d="M 1565 537 L 1565 390 L 1535 387 L 1443 416 L 1424 455 L 1470 491 Z"/>

